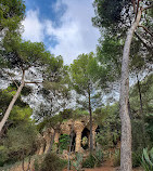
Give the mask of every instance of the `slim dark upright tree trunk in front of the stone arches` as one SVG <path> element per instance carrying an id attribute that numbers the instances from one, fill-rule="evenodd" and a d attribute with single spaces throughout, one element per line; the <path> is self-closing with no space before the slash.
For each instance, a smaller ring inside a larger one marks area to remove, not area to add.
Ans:
<path id="1" fill-rule="evenodd" d="M 89 90 L 89 101 L 88 101 L 88 105 L 89 105 L 89 115 L 90 115 L 90 153 L 92 153 L 93 150 L 93 137 L 92 137 L 92 109 L 91 109 L 91 96 L 90 96 L 90 90 Z"/>

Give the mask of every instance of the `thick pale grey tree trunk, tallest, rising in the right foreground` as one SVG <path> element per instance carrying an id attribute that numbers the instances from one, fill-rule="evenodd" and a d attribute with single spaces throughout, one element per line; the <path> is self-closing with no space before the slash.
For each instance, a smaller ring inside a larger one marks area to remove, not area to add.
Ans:
<path id="1" fill-rule="evenodd" d="M 120 170 L 131 171 L 131 123 L 128 113 L 129 101 L 129 53 L 133 32 L 139 25 L 141 18 L 141 10 L 138 12 L 137 18 L 127 32 L 126 42 L 124 45 L 123 62 L 122 62 L 122 82 L 120 82 L 120 120 L 122 120 L 122 146 L 120 146 Z"/>

